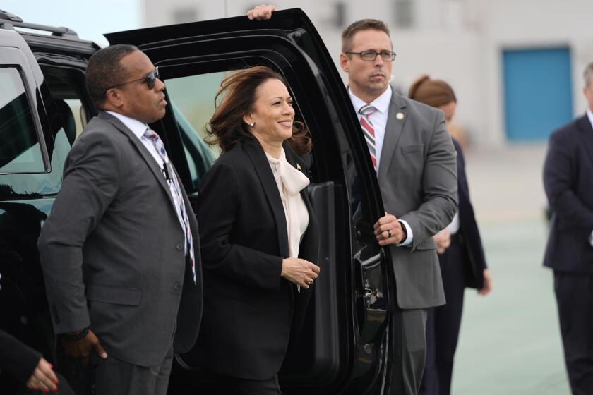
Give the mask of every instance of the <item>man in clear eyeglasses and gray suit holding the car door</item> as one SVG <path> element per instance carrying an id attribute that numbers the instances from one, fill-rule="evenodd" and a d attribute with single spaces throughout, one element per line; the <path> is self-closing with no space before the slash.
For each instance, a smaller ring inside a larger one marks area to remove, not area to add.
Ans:
<path id="1" fill-rule="evenodd" d="M 268 19 L 272 11 L 273 6 L 258 6 L 248 17 Z M 340 66 L 348 73 L 348 93 L 387 210 L 375 234 L 380 245 L 388 246 L 397 293 L 390 322 L 390 390 L 409 395 L 417 394 L 424 372 L 427 309 L 445 303 L 432 236 L 457 211 L 457 167 L 443 111 L 390 87 L 394 59 L 381 20 L 358 20 L 342 32 Z"/>

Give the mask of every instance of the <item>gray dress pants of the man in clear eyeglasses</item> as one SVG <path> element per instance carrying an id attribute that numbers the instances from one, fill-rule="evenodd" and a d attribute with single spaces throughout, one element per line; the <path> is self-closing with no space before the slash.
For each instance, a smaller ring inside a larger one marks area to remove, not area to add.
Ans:
<path id="1" fill-rule="evenodd" d="M 426 309 L 402 310 L 395 306 L 393 327 L 393 360 L 390 394 L 416 395 L 424 372 L 426 358 Z"/>

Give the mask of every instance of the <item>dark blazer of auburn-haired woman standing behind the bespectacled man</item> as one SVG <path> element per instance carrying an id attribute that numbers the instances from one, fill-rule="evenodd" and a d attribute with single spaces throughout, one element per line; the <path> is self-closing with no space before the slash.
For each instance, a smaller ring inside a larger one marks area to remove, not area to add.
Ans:
<path id="1" fill-rule="evenodd" d="M 457 151 L 457 193 L 459 194 L 459 222 L 460 234 L 465 245 L 465 286 L 469 288 L 482 288 L 484 286 L 484 269 L 486 258 L 482 248 L 480 231 L 474 217 L 474 207 L 469 200 L 469 187 L 465 176 L 465 159 L 461 146 L 452 138 L 455 151 Z"/>

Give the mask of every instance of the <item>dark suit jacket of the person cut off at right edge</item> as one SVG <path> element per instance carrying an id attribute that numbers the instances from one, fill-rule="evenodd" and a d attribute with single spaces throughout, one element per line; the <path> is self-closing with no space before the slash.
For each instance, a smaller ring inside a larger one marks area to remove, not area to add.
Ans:
<path id="1" fill-rule="evenodd" d="M 544 266 L 593 273 L 593 128 L 587 115 L 550 136 L 544 188 L 552 212 Z"/>

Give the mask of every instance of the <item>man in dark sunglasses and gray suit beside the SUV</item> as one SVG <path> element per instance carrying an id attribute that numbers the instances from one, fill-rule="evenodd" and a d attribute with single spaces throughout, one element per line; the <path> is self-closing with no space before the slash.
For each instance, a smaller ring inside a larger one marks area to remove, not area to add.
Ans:
<path id="1" fill-rule="evenodd" d="M 100 109 L 68 154 L 38 246 L 49 310 L 66 354 L 89 358 L 97 394 L 166 394 L 173 353 L 200 325 L 198 224 L 152 131 L 164 83 L 138 48 L 89 60 Z"/>

